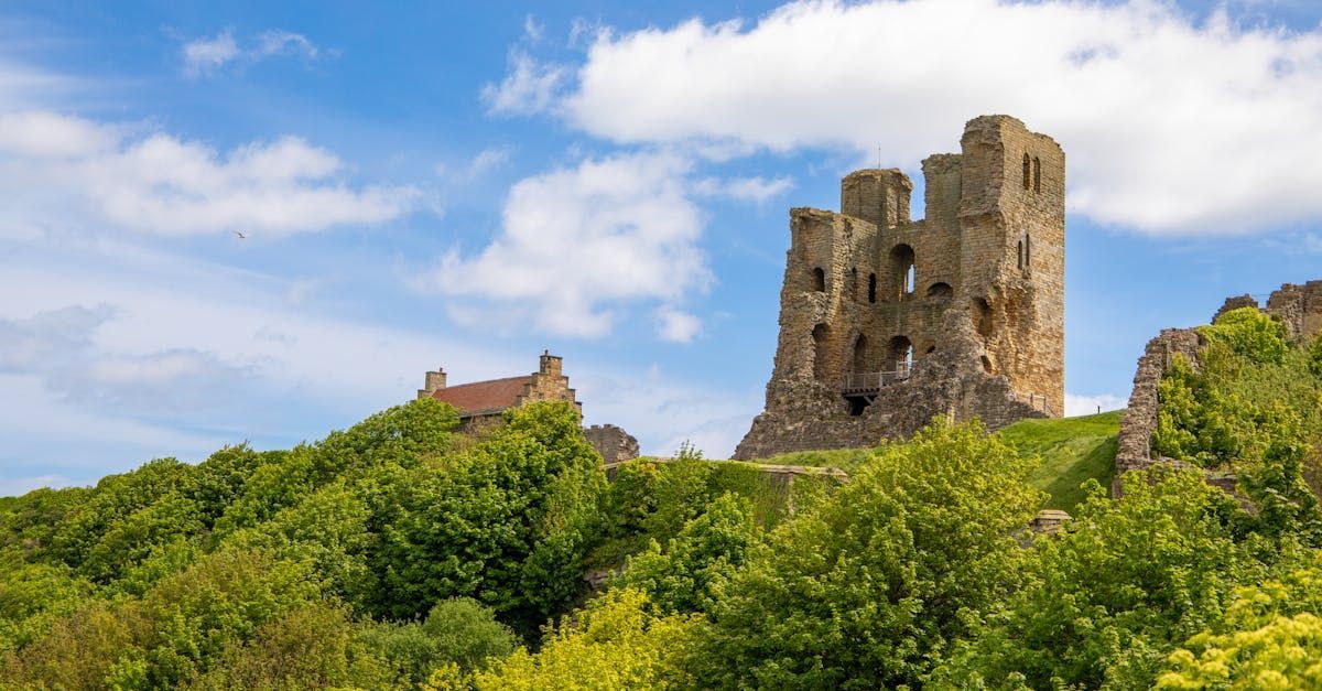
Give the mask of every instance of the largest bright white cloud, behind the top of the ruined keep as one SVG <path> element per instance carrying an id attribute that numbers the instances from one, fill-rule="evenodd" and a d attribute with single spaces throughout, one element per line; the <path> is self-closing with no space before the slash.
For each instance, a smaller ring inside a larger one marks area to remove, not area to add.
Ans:
<path id="1" fill-rule="evenodd" d="M 517 60 L 494 91 L 520 107 L 493 110 L 623 143 L 880 146 L 908 169 L 957 150 L 966 119 L 1009 113 L 1063 143 L 1071 208 L 1097 221 L 1232 233 L 1322 217 L 1322 28 L 1195 23 L 1155 0 L 802 1 L 752 25 L 602 30 L 564 69 Z"/>

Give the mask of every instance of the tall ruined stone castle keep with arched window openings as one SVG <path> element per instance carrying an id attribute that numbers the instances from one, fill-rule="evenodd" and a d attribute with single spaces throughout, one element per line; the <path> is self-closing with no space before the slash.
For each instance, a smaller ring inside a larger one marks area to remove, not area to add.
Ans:
<path id="1" fill-rule="evenodd" d="M 841 212 L 789 212 L 765 410 L 735 451 L 875 445 L 933 416 L 999 428 L 1064 409 L 1064 152 L 1006 115 L 910 179 L 863 169 Z"/>

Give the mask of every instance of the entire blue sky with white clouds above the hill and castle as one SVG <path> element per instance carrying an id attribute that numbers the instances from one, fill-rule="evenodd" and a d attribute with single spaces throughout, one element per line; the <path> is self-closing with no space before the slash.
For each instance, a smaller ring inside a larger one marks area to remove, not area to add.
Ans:
<path id="1" fill-rule="evenodd" d="M 787 209 L 878 147 L 920 184 L 984 113 L 1068 156 L 1075 410 L 1159 328 L 1322 278 L 1314 3 L 272 5 L 0 8 L 0 494 L 542 348 L 588 422 L 728 454 Z"/>

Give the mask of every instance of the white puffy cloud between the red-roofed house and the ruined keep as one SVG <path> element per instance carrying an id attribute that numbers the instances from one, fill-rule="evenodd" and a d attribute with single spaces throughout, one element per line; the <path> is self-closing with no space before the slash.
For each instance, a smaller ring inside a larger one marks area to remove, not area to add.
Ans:
<path id="1" fill-rule="evenodd" d="M 448 253 L 418 286 L 456 298 L 461 320 L 575 336 L 608 332 L 628 303 L 672 306 L 710 281 L 689 168 L 672 154 L 620 154 L 521 180 L 500 234 L 475 255 Z M 674 311 L 658 326 L 691 338 L 694 322 Z"/>

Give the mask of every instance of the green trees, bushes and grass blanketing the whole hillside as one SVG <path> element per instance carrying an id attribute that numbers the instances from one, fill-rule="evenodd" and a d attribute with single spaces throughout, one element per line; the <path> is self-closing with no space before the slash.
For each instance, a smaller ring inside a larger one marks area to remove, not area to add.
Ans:
<path id="1" fill-rule="evenodd" d="M 1161 384 L 1186 463 L 1120 499 L 1114 413 L 608 481 L 568 405 L 472 439 L 431 400 L 38 490 L 0 502 L 0 688 L 1318 686 L 1322 339 L 1278 327 L 1204 330 Z"/>

